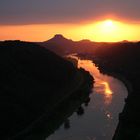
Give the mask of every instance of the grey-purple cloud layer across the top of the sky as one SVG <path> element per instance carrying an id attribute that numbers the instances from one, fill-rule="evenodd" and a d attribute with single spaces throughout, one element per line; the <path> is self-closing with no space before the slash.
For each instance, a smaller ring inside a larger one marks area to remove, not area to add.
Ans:
<path id="1" fill-rule="evenodd" d="M 1 0 L 0 24 L 79 23 L 108 15 L 140 21 L 140 0 Z"/>

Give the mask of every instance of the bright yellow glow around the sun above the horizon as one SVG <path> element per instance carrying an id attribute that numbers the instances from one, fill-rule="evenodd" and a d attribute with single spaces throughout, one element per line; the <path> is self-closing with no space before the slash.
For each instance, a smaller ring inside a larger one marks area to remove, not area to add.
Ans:
<path id="1" fill-rule="evenodd" d="M 87 25 L 87 28 L 84 29 L 84 34 L 87 33 L 86 36 L 91 40 L 112 42 L 124 39 L 129 40 L 133 33 L 131 29 L 130 25 L 124 24 L 121 21 L 105 19 Z"/>

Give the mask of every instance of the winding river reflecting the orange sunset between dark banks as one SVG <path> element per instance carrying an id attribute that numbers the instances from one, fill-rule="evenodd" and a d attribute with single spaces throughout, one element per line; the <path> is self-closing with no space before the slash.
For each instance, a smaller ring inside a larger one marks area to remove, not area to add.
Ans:
<path id="1" fill-rule="evenodd" d="M 128 91 L 120 80 L 100 73 L 91 60 L 78 59 L 78 67 L 94 76 L 90 102 L 81 106 L 81 114 L 74 112 L 46 140 L 111 140 Z"/>

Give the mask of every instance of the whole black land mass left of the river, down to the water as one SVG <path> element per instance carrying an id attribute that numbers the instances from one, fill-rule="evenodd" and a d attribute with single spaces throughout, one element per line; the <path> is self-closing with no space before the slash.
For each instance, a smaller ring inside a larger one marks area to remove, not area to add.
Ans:
<path id="1" fill-rule="evenodd" d="M 88 72 L 34 43 L 0 42 L 0 66 L 3 140 L 39 136 L 43 128 L 48 136 L 61 124 L 50 123 L 56 120 L 54 112 L 59 118 L 71 107 L 60 118 L 69 116 L 88 98 L 93 85 Z M 59 114 L 58 110 L 64 111 Z"/>

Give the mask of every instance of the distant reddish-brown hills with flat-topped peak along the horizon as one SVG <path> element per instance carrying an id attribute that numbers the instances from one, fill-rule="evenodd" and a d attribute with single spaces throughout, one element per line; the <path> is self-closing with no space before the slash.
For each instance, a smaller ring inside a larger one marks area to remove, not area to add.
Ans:
<path id="1" fill-rule="evenodd" d="M 129 42 L 123 40 L 121 42 L 93 42 L 88 39 L 83 39 L 80 41 L 72 41 L 63 37 L 63 35 L 57 34 L 52 39 L 40 42 L 39 44 L 59 55 L 69 54 L 69 53 L 91 53 L 96 54 L 98 51 L 103 51 L 105 47 L 121 47 L 121 46 L 137 46 L 139 42 Z"/>

